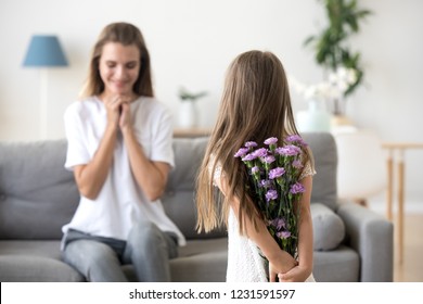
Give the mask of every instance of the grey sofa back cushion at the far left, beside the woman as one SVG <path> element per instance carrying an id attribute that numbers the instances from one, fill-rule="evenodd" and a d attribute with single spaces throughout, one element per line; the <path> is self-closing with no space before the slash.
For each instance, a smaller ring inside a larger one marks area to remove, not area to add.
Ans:
<path id="1" fill-rule="evenodd" d="M 65 140 L 0 142 L 0 239 L 61 239 L 78 205 Z"/>

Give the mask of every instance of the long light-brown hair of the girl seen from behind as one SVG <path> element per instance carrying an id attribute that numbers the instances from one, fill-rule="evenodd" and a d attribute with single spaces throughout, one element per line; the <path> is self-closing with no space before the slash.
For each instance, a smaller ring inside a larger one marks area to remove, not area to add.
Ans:
<path id="1" fill-rule="evenodd" d="M 271 52 L 249 51 L 238 55 L 227 71 L 217 122 L 196 181 L 198 231 L 227 224 L 228 201 L 234 197 L 240 199 L 240 231 L 244 231 L 243 214 L 257 224 L 261 217 L 245 189 L 247 173 L 233 155 L 246 141 L 262 144 L 269 137 L 282 140 L 289 135 L 298 131 L 281 61 Z M 308 160 L 311 153 L 307 150 L 303 161 Z M 225 197 L 214 189 L 217 164 L 228 186 Z"/>

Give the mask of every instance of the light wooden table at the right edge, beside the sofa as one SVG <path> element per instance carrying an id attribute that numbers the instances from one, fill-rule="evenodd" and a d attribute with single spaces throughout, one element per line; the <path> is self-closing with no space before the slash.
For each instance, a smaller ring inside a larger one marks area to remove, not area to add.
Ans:
<path id="1" fill-rule="evenodd" d="M 386 193 L 386 216 L 393 220 L 393 189 L 394 189 L 394 159 L 397 163 L 397 195 L 398 195 L 398 243 L 399 263 L 403 258 L 403 204 L 405 204 L 405 151 L 410 149 L 423 149 L 420 142 L 383 142 L 382 148 L 388 150 L 387 166 L 387 193 Z M 395 153 L 396 152 L 396 153 Z"/>

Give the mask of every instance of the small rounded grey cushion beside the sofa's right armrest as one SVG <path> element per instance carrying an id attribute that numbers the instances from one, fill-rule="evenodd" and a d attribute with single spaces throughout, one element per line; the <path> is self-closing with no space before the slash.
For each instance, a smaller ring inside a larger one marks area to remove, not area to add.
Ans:
<path id="1" fill-rule="evenodd" d="M 322 203 L 311 204 L 315 251 L 336 249 L 345 238 L 341 217 Z"/>

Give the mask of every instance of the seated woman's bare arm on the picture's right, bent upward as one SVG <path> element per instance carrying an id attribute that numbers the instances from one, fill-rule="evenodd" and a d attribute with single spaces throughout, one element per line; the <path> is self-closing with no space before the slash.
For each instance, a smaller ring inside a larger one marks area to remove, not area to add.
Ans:
<path id="1" fill-rule="evenodd" d="M 138 142 L 130 122 L 129 104 L 123 104 L 120 129 L 128 150 L 129 163 L 137 183 L 150 201 L 157 200 L 165 190 L 170 166 L 164 162 L 149 160 Z"/>

